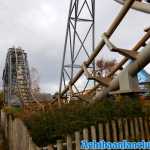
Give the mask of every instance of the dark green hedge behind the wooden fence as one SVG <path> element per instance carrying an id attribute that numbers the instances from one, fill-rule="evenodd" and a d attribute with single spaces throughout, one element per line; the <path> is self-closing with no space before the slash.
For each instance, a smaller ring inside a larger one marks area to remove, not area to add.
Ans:
<path id="1" fill-rule="evenodd" d="M 87 106 L 82 103 L 66 104 L 62 109 L 33 113 L 26 116 L 24 122 L 34 142 L 39 146 L 46 146 L 98 122 L 142 115 L 144 113 L 140 102 L 125 97 L 121 102 L 106 100 Z"/>

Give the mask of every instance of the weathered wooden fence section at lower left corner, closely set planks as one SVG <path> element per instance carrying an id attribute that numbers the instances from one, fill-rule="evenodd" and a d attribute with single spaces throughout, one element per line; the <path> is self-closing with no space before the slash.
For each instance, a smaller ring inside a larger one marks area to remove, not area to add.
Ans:
<path id="1" fill-rule="evenodd" d="M 1 127 L 8 140 L 10 150 L 40 150 L 30 137 L 27 128 L 20 119 L 13 119 L 11 115 L 1 112 Z"/>

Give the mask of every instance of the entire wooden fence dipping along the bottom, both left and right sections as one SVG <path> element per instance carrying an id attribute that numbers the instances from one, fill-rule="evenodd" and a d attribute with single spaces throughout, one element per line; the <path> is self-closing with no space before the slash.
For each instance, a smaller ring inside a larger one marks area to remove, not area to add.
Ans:
<path id="1" fill-rule="evenodd" d="M 27 128 L 20 119 L 1 112 L 1 126 L 5 130 L 11 150 L 80 150 L 81 140 L 150 140 L 150 117 L 120 118 L 105 123 L 99 123 L 82 132 L 75 132 L 55 145 L 39 148 L 30 137 Z"/>

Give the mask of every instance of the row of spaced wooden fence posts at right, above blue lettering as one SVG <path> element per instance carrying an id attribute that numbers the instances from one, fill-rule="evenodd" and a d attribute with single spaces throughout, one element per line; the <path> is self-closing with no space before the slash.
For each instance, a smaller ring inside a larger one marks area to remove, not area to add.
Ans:
<path id="1" fill-rule="evenodd" d="M 56 145 L 49 145 L 41 150 L 80 150 L 81 140 L 150 140 L 150 117 L 120 118 L 97 126 L 84 128 L 82 132 L 68 135 L 65 140 L 58 140 Z"/>

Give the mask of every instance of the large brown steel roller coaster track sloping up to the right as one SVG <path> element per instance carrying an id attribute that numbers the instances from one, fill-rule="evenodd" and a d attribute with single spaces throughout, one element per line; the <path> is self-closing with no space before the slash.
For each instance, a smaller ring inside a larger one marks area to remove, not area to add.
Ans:
<path id="1" fill-rule="evenodd" d="M 89 93 L 95 92 L 96 89 L 100 85 L 105 87 L 103 91 L 101 91 L 94 97 L 92 96 L 90 98 L 90 100 L 93 99 L 93 101 L 94 101 L 94 100 L 101 99 L 104 96 L 106 96 L 107 94 L 110 94 L 111 92 L 116 91 L 116 90 L 119 90 L 119 92 L 123 92 L 122 89 L 125 89 L 125 91 L 126 91 L 127 87 L 122 87 L 123 83 L 121 83 L 121 81 L 120 81 L 121 78 L 123 78 L 123 73 L 126 74 L 126 78 L 131 77 L 132 81 L 134 82 L 137 78 L 136 74 L 150 62 L 150 53 L 148 53 L 148 51 L 150 51 L 150 43 L 146 44 L 146 42 L 150 38 L 150 28 L 145 29 L 145 32 L 146 32 L 145 35 L 139 40 L 139 42 L 137 42 L 135 47 L 133 47 L 131 50 L 118 48 L 118 47 L 114 46 L 114 44 L 112 44 L 111 41 L 109 40 L 110 37 L 112 36 L 112 34 L 115 32 L 117 27 L 120 25 L 120 23 L 124 19 L 125 15 L 128 13 L 130 8 L 133 8 L 133 9 L 136 9 L 141 12 L 149 14 L 150 13 L 150 4 L 138 2 L 135 0 L 125 0 L 125 1 L 115 0 L 115 1 L 123 4 L 123 7 L 120 10 L 119 14 L 114 19 L 114 21 L 110 25 L 109 29 L 102 35 L 102 39 L 98 43 L 97 47 L 94 49 L 93 53 L 89 56 L 89 58 L 85 62 L 83 62 L 83 64 L 80 64 L 81 68 L 80 68 L 79 72 L 76 73 L 76 75 L 70 80 L 69 84 L 67 86 L 65 86 L 62 91 L 60 91 L 58 99 L 54 100 L 52 103 L 58 102 L 59 106 L 61 106 L 61 104 L 63 103 L 62 99 L 63 99 L 64 95 L 66 95 L 66 93 L 70 92 L 70 93 L 72 93 L 72 95 L 75 95 L 75 93 L 73 93 L 72 86 L 80 79 L 80 77 L 83 74 L 85 74 L 85 76 L 87 77 L 87 80 L 95 80 L 96 82 L 98 81 L 96 86 L 93 89 L 91 89 Z M 93 76 L 90 73 L 90 71 L 88 70 L 88 66 L 93 62 L 95 57 L 101 52 L 101 50 L 103 49 L 103 47 L 105 45 L 108 47 L 108 49 L 110 49 L 110 51 L 117 52 L 117 53 L 121 54 L 122 56 L 124 56 L 124 58 L 114 68 L 114 70 L 111 71 L 111 73 L 108 75 L 108 77 L 103 79 L 100 77 Z M 143 47 L 143 51 L 137 52 L 142 47 Z M 148 57 L 145 54 L 147 54 Z M 128 67 L 123 68 L 123 65 L 129 59 L 134 60 L 133 64 L 130 64 Z M 123 73 L 120 73 L 116 80 L 109 81 L 110 77 L 113 76 L 116 72 L 120 71 L 121 68 L 123 68 L 123 70 L 121 71 Z M 132 72 L 130 70 L 135 70 L 135 71 Z M 129 86 L 128 87 L 129 91 L 126 91 L 126 92 L 138 92 L 139 91 L 137 82 L 133 83 L 133 86 L 135 86 L 135 87 L 130 87 L 130 86 L 132 86 L 132 85 L 130 85 L 131 84 L 130 81 L 127 81 L 127 82 L 128 82 L 128 86 Z M 122 87 L 122 89 L 119 89 L 119 87 Z M 80 96 L 80 93 L 78 93 L 78 96 Z"/>

